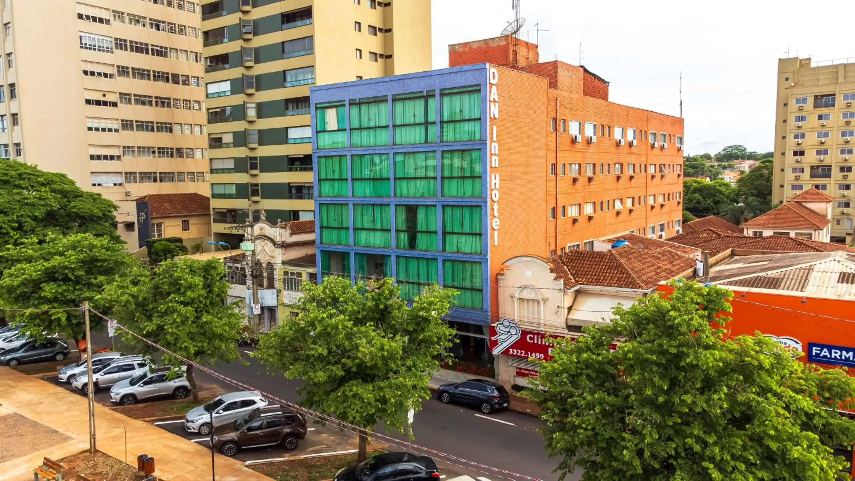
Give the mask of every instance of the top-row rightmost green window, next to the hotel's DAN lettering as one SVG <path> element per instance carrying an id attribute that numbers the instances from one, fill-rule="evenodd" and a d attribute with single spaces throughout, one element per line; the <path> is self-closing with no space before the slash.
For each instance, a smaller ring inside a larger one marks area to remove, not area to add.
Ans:
<path id="1" fill-rule="evenodd" d="M 442 142 L 481 140 L 481 87 L 439 91 L 442 98 Z"/>

